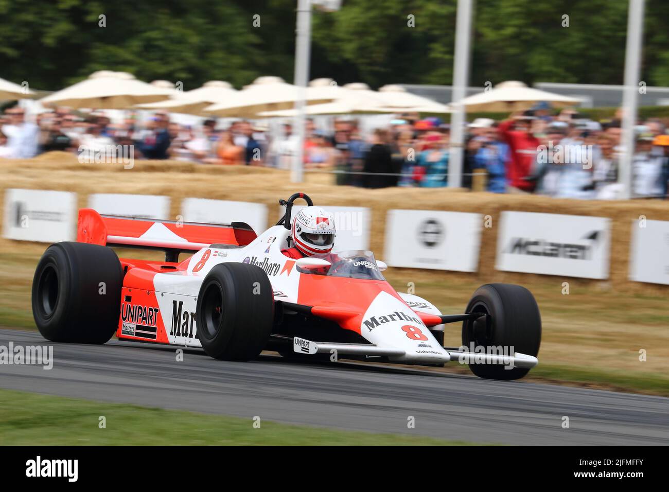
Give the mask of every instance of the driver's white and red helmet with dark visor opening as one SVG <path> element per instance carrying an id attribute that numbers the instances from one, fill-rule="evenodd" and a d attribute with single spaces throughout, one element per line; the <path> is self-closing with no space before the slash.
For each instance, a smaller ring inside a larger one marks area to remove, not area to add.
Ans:
<path id="1" fill-rule="evenodd" d="M 293 219 L 295 247 L 308 256 L 326 256 L 334 246 L 334 217 L 320 207 L 304 207 Z"/>

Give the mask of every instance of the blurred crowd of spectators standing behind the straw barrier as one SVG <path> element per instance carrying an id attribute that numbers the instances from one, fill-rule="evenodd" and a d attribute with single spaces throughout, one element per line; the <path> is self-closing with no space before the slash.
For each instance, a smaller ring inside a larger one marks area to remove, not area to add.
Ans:
<path id="1" fill-rule="evenodd" d="M 102 112 L 68 108 L 28 120 L 21 106 L 0 115 L 0 158 L 27 159 L 39 153 L 80 153 L 134 146 L 140 159 L 177 159 L 209 165 L 260 165 L 288 169 L 297 151 L 292 125 L 280 131 L 247 120 L 221 128 L 203 120 L 191 127 L 155 112 L 140 122 L 128 111 L 122 122 Z M 635 127 L 632 164 L 635 197 L 666 197 L 669 134 L 666 121 L 648 118 Z M 546 103 L 496 122 L 476 118 L 464 144 L 462 185 L 493 193 L 538 193 L 555 197 L 613 199 L 624 151 L 620 114 L 595 121 L 577 110 L 555 114 Z M 332 130 L 308 118 L 306 170 L 334 171 L 338 184 L 379 188 L 448 185 L 450 127 L 440 118 L 402 114 L 389 125 L 363 133 L 352 117 L 335 118 Z M 481 181 L 476 181 L 481 177 Z M 479 183 L 478 185 L 476 183 Z"/>

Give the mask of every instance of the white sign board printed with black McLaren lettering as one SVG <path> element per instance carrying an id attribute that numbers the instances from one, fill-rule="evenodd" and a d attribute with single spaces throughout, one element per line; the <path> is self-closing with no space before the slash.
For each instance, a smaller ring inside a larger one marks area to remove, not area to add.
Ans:
<path id="1" fill-rule="evenodd" d="M 607 278 L 609 228 L 601 217 L 502 212 L 496 268 Z"/>

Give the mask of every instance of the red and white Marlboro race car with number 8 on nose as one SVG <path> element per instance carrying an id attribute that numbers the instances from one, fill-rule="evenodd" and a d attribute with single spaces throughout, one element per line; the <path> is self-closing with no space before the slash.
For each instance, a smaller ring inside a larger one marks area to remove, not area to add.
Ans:
<path id="1" fill-rule="evenodd" d="M 537 365 L 541 317 L 524 287 L 486 284 L 464 314 L 442 315 L 383 278 L 369 251 L 337 261 L 289 258 L 295 193 L 260 236 L 242 222 L 193 224 L 79 212 L 77 242 L 43 254 L 32 288 L 40 333 L 51 341 L 120 340 L 202 347 L 245 361 L 264 349 L 284 357 L 405 364 L 468 363 L 482 378 L 514 380 Z M 110 247 L 163 250 L 165 261 L 120 259 Z M 179 254 L 194 252 L 179 262 Z M 462 347 L 443 347 L 444 325 L 462 321 Z"/>

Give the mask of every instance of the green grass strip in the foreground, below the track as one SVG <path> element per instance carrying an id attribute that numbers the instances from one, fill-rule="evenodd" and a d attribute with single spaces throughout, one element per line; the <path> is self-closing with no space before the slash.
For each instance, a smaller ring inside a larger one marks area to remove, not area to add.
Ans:
<path id="1" fill-rule="evenodd" d="M 106 428 L 100 428 L 100 417 Z M 463 446 L 423 436 L 372 434 L 0 390 L 3 446 Z"/>

